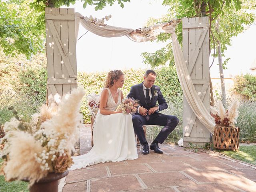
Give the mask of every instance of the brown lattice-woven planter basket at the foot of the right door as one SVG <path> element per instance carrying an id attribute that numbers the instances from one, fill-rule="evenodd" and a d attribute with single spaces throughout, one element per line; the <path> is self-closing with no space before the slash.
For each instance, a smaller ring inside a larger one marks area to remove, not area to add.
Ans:
<path id="1" fill-rule="evenodd" d="M 214 148 L 225 150 L 239 149 L 239 127 L 226 127 L 216 125 L 214 127 Z"/>

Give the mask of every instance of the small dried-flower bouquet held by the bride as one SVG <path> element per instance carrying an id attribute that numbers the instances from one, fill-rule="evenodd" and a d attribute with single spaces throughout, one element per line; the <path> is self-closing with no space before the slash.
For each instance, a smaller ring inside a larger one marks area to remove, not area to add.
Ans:
<path id="1" fill-rule="evenodd" d="M 138 108 L 138 101 L 133 100 L 132 98 L 125 98 L 122 100 L 122 103 L 117 107 L 118 110 L 122 110 L 123 114 L 132 114 L 136 113 Z"/>

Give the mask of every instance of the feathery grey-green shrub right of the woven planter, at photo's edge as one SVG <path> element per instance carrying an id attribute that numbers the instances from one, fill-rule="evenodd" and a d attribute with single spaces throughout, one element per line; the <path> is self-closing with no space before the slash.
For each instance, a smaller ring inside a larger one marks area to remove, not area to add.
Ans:
<path id="1" fill-rule="evenodd" d="M 238 108 L 237 126 L 240 127 L 240 141 L 256 142 L 256 101 L 243 100 Z"/>

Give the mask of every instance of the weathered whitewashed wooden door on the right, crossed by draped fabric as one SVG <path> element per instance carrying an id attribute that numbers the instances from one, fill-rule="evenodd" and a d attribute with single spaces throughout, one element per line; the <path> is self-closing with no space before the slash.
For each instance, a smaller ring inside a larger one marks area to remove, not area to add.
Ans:
<path id="1" fill-rule="evenodd" d="M 198 96 L 210 110 L 208 17 L 184 18 L 183 55 Z M 198 120 L 183 96 L 183 145 L 210 142 L 210 132 Z"/>

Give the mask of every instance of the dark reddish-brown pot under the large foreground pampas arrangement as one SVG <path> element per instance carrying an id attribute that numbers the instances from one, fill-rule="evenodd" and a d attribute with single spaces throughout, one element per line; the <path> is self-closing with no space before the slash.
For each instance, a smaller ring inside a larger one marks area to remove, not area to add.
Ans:
<path id="1" fill-rule="evenodd" d="M 59 179 L 68 175 L 68 170 L 64 173 L 48 173 L 48 175 L 38 182 L 35 182 L 30 188 L 30 192 L 58 192 Z M 24 179 L 24 181 L 29 181 Z"/>

